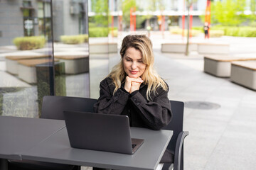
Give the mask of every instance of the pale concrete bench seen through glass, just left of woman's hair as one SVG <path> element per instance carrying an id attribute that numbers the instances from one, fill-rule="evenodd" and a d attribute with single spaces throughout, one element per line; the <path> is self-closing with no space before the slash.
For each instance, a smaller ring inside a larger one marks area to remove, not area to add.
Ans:
<path id="1" fill-rule="evenodd" d="M 90 43 L 90 54 L 115 53 L 117 52 L 116 42 Z"/>

